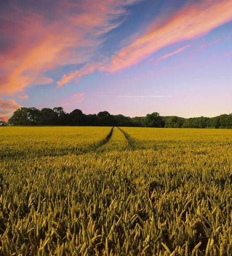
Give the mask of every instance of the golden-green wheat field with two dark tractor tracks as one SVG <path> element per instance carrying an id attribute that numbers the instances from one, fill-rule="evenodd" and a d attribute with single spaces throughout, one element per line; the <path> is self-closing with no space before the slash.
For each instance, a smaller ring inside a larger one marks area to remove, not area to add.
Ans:
<path id="1" fill-rule="evenodd" d="M 0 255 L 232 255 L 232 130 L 1 127 Z"/>

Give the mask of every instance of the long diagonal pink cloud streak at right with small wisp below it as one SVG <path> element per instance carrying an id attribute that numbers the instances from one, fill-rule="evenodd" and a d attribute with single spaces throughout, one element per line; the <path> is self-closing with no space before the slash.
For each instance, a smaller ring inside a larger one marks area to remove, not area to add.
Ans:
<path id="1" fill-rule="evenodd" d="M 205 35 L 212 29 L 230 20 L 232 20 L 231 0 L 192 1 L 186 4 L 181 10 L 172 14 L 169 19 L 167 19 L 165 13 L 160 14 L 160 17 L 148 26 L 145 33 L 133 42 L 130 42 L 126 47 L 121 48 L 110 60 L 103 63 L 95 62 L 94 71 L 109 73 L 120 71 L 147 59 L 161 48 Z M 179 49 L 177 52 L 164 55 L 162 59 L 183 50 L 185 49 Z M 75 80 L 75 76 L 79 80 L 82 76 L 91 74 L 92 70 L 88 70 L 91 64 L 88 63 L 86 65 L 78 71 L 64 75 L 58 82 L 58 85 L 62 86 L 65 83 Z"/>

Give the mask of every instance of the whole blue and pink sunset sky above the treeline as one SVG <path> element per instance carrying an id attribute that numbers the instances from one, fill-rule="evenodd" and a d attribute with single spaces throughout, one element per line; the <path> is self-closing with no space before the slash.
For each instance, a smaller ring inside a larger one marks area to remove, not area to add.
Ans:
<path id="1" fill-rule="evenodd" d="M 0 120 L 232 112 L 232 0 L 1 0 Z"/>

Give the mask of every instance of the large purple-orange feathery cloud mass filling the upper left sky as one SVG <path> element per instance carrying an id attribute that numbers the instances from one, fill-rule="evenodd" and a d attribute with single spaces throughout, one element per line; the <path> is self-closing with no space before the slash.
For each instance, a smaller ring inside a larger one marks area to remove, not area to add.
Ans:
<path id="1" fill-rule="evenodd" d="M 34 7 L 5 4 L 0 10 L 0 96 L 49 84 L 50 69 L 89 61 L 102 35 L 120 25 L 136 0 L 58 0 Z"/>

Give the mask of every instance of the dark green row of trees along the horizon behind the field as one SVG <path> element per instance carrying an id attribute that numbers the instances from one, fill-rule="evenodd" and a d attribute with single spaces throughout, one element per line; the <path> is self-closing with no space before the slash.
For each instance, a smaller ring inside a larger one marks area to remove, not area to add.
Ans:
<path id="1" fill-rule="evenodd" d="M 144 117 L 111 115 L 107 111 L 98 114 L 84 114 L 80 109 L 66 113 L 62 107 L 53 109 L 22 107 L 17 109 L 7 123 L 0 125 L 22 126 L 134 126 L 134 127 L 165 127 L 165 128 L 232 128 L 232 113 L 222 114 L 213 118 L 181 118 L 178 116 L 160 116 L 153 112 Z"/>

